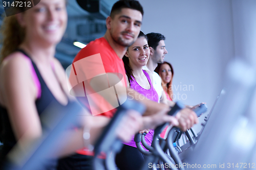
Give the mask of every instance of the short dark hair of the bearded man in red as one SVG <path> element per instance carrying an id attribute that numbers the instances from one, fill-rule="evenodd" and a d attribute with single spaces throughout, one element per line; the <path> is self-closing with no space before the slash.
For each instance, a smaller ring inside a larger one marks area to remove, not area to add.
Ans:
<path id="1" fill-rule="evenodd" d="M 140 5 L 140 3 L 138 1 L 133 1 L 133 0 L 120 0 L 118 2 L 116 2 L 110 12 L 110 17 L 114 18 L 116 14 L 118 14 L 119 12 L 121 12 L 121 10 L 123 8 L 130 8 L 133 10 L 137 10 L 140 11 L 142 16 L 144 14 L 143 12 L 143 8 Z"/>

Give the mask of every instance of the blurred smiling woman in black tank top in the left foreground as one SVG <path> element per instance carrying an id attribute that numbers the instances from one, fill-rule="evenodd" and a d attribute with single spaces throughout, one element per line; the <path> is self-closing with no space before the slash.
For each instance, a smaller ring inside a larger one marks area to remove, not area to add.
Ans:
<path id="1" fill-rule="evenodd" d="M 67 89 L 65 71 L 54 58 L 56 45 L 67 27 L 66 4 L 65 0 L 41 0 L 35 7 L 3 21 L 0 111 L 4 146 L 0 161 L 7 159 L 16 143 L 26 152 L 41 137 L 44 125 L 40 115 L 51 103 L 68 108 L 75 102 Z M 88 115 L 86 111 L 81 114 Z M 102 116 L 82 117 L 87 118 L 79 117 L 82 119 L 80 127 L 63 134 L 65 143 L 58 143 L 59 152 L 53 151 L 51 155 L 58 157 L 87 147 L 109 122 Z M 125 124 L 130 120 L 135 124 Z M 119 137 L 129 140 L 129 134 L 139 129 L 141 120 L 137 113 L 132 112 L 125 122 L 122 129 L 128 131 L 125 135 L 119 133 Z M 89 141 L 83 140 L 84 127 L 91 133 Z"/>

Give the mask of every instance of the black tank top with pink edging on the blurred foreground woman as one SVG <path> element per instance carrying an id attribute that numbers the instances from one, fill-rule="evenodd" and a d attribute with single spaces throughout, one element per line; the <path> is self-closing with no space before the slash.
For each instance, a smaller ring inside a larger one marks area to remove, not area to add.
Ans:
<path id="1" fill-rule="evenodd" d="M 23 50 L 18 50 L 18 51 L 22 52 L 24 55 L 28 56 Z M 57 100 L 53 96 L 50 89 L 47 87 L 45 81 L 42 79 L 40 72 L 33 61 L 32 61 L 32 64 L 33 64 L 33 67 L 35 69 L 36 75 L 38 77 L 38 80 L 39 80 L 40 86 L 41 86 L 41 96 L 39 99 L 37 99 L 35 101 L 36 109 L 37 109 L 38 115 L 40 116 L 40 114 L 42 112 L 44 112 L 44 110 L 51 103 L 57 102 Z M 71 103 L 74 103 L 74 102 L 69 101 L 68 105 L 63 106 L 63 107 L 68 107 Z M 2 150 L 0 151 L 0 168 L 1 168 L 1 160 L 4 160 L 5 156 L 14 147 L 14 145 L 16 144 L 17 141 L 15 139 L 15 136 L 14 136 L 11 124 L 10 124 L 8 111 L 6 110 L 6 108 L 0 106 L 0 115 L 1 115 L 1 117 L 0 117 L 1 126 L 3 128 L 1 137 L 2 137 L 2 142 L 4 144 Z M 43 124 L 42 124 L 42 127 L 44 127 Z"/>

